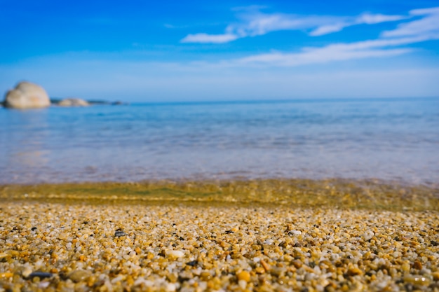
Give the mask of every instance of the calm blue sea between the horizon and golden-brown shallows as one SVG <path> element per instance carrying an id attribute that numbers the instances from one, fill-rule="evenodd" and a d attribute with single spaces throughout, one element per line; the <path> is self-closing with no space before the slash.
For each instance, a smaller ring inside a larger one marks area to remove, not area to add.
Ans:
<path id="1" fill-rule="evenodd" d="M 0 183 L 352 178 L 439 183 L 439 99 L 0 108 Z"/>

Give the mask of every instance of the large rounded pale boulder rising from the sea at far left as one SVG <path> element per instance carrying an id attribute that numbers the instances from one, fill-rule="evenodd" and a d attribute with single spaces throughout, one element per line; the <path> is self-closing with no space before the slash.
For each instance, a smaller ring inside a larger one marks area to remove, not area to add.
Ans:
<path id="1" fill-rule="evenodd" d="M 37 109 L 50 106 L 50 99 L 41 86 L 23 81 L 6 92 L 4 106 L 12 109 Z"/>

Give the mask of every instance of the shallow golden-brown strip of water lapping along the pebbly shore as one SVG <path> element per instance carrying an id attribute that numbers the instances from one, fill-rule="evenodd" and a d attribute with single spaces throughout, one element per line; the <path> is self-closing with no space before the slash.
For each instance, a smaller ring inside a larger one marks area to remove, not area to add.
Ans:
<path id="1" fill-rule="evenodd" d="M 352 179 L 11 184 L 0 186 L 0 200 L 439 211 L 439 186 Z"/>

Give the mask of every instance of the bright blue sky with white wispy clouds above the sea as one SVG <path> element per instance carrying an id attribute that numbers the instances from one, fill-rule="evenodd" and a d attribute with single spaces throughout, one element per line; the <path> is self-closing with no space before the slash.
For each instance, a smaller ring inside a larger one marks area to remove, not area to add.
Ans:
<path id="1" fill-rule="evenodd" d="M 439 1 L 0 0 L 0 90 L 19 81 L 123 102 L 439 97 Z"/>

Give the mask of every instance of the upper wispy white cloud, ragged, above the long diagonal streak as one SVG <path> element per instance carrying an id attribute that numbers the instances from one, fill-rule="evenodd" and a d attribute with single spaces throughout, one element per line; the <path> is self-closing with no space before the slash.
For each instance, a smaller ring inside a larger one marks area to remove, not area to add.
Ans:
<path id="1" fill-rule="evenodd" d="M 364 13 L 357 17 L 303 16 L 285 13 L 262 13 L 260 8 L 251 7 L 238 13 L 238 22 L 228 25 L 224 34 L 189 34 L 182 43 L 227 43 L 248 36 L 261 36 L 280 30 L 302 30 L 310 36 L 321 36 L 339 32 L 353 25 L 373 25 L 380 22 L 403 20 L 401 15 L 382 15 Z"/>

